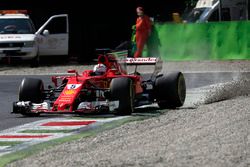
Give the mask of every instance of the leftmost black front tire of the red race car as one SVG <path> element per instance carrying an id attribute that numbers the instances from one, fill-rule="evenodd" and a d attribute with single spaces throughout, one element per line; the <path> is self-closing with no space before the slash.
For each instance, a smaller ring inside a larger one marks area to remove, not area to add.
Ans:
<path id="1" fill-rule="evenodd" d="M 19 101 L 30 101 L 32 103 L 43 102 L 44 85 L 42 80 L 35 78 L 24 78 L 19 87 Z M 22 113 L 26 116 L 38 116 L 38 113 Z"/>

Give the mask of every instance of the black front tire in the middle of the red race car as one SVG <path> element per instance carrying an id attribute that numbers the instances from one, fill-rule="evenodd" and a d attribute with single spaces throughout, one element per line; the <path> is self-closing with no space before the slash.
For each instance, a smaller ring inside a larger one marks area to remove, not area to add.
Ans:
<path id="1" fill-rule="evenodd" d="M 114 78 L 110 83 L 111 100 L 119 100 L 116 115 L 131 115 L 134 111 L 134 87 L 130 78 Z"/>

